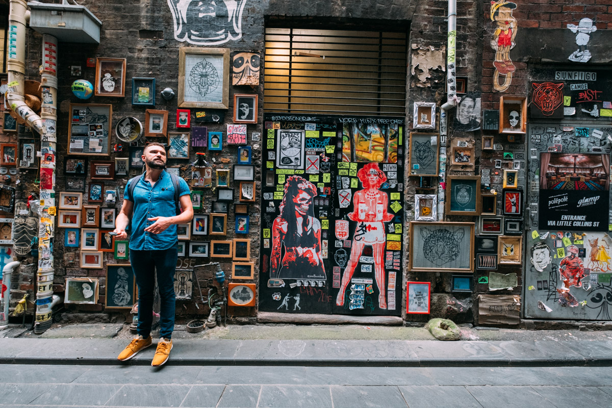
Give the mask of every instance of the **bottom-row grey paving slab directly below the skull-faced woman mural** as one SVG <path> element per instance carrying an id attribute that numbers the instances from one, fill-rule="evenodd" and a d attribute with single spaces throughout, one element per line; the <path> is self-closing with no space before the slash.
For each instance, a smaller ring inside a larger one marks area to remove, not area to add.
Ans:
<path id="1" fill-rule="evenodd" d="M 332 406 L 332 397 L 329 393 L 329 387 L 264 385 L 259 397 L 259 407 L 261 408 L 321 408 L 330 406 Z"/>

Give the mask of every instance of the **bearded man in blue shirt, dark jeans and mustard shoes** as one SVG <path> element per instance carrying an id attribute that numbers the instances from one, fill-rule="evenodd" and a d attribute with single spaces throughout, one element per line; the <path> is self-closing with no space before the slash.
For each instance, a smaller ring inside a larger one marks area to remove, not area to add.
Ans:
<path id="1" fill-rule="evenodd" d="M 162 144 L 150 143 L 142 155 L 146 171 L 125 186 L 121 212 L 115 221 L 117 239 L 126 239 L 125 227 L 131 220 L 130 263 L 138 284 L 138 336 L 119 354 L 121 361 L 151 346 L 153 295 L 155 278 L 161 298 L 160 340 L 152 366 L 168 360 L 174 330 L 174 270 L 177 260 L 176 224 L 193 218 L 190 191 L 185 180 L 179 180 L 179 202 L 182 213 L 176 215 L 174 183 L 166 168 L 166 150 Z M 136 182 L 133 191 L 130 183 Z M 132 196 L 133 195 L 133 196 Z"/>

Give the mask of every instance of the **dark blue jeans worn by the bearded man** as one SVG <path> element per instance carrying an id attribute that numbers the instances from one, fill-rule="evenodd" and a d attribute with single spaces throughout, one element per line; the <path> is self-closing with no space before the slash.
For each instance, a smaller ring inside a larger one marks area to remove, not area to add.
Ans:
<path id="1" fill-rule="evenodd" d="M 143 338 L 149 337 L 153 323 L 154 273 L 157 273 L 157 286 L 161 298 L 159 335 L 163 338 L 172 338 L 176 303 L 174 295 L 176 259 L 176 245 L 159 251 L 130 250 L 130 263 L 138 284 L 138 334 Z"/>

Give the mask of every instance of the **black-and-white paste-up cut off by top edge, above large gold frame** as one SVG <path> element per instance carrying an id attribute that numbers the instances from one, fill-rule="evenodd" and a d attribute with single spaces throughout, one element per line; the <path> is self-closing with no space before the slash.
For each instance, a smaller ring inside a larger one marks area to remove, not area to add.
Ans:
<path id="1" fill-rule="evenodd" d="M 174 39 L 215 45 L 242 38 L 242 12 L 247 0 L 168 0 Z"/>

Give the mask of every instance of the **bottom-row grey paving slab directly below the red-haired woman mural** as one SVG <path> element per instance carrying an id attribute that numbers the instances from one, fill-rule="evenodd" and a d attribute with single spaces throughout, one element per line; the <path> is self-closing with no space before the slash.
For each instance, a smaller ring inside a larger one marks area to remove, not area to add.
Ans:
<path id="1" fill-rule="evenodd" d="M 406 408 L 397 387 L 331 387 L 334 408 Z"/>

